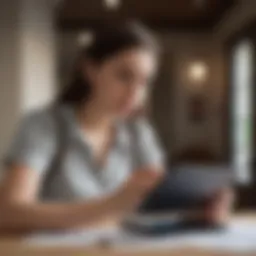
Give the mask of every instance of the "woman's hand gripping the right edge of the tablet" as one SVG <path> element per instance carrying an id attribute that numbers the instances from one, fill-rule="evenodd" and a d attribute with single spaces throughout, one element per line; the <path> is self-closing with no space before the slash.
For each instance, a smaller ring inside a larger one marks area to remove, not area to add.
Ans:
<path id="1" fill-rule="evenodd" d="M 204 218 L 214 224 L 225 224 L 233 210 L 234 191 L 231 188 L 223 188 L 208 199 L 204 208 Z"/>

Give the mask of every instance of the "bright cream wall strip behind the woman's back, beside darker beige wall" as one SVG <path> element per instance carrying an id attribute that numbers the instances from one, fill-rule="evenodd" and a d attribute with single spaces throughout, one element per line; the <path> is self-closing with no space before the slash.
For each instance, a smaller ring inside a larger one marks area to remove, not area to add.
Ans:
<path id="1" fill-rule="evenodd" d="M 21 111 L 49 103 L 56 92 L 56 49 L 50 1 L 23 0 L 20 12 Z"/>

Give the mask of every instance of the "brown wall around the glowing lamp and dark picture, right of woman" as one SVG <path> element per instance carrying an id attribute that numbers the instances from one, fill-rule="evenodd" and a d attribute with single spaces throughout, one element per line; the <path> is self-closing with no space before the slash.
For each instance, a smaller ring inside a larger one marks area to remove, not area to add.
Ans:
<path id="1" fill-rule="evenodd" d="M 165 34 L 161 36 L 167 58 L 172 59 L 166 81 L 170 90 L 169 115 L 172 133 L 168 135 L 169 151 L 173 154 L 191 148 L 205 147 L 219 158 L 222 145 L 222 96 L 224 88 L 222 45 L 207 34 Z M 189 99 L 193 84 L 188 79 L 188 66 L 201 61 L 208 66 L 209 76 L 202 88 L 205 90 L 206 116 L 204 122 L 195 124 L 189 117 Z M 165 92 L 163 91 L 163 94 Z"/>

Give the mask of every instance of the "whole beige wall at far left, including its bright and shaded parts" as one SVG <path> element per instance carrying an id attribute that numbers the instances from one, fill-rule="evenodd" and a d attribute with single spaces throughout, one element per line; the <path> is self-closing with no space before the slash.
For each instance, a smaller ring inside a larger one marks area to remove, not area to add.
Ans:
<path id="1" fill-rule="evenodd" d="M 52 11 L 51 1 L 46 0 L 0 3 L 0 159 L 20 118 L 54 96 Z"/>

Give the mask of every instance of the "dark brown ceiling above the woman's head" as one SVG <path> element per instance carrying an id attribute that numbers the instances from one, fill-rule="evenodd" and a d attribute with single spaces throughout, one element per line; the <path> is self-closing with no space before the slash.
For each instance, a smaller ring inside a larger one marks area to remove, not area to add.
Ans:
<path id="1" fill-rule="evenodd" d="M 117 9 L 104 0 L 64 0 L 58 8 L 60 29 L 84 29 L 138 19 L 156 29 L 211 29 L 235 0 L 120 0 Z"/>

